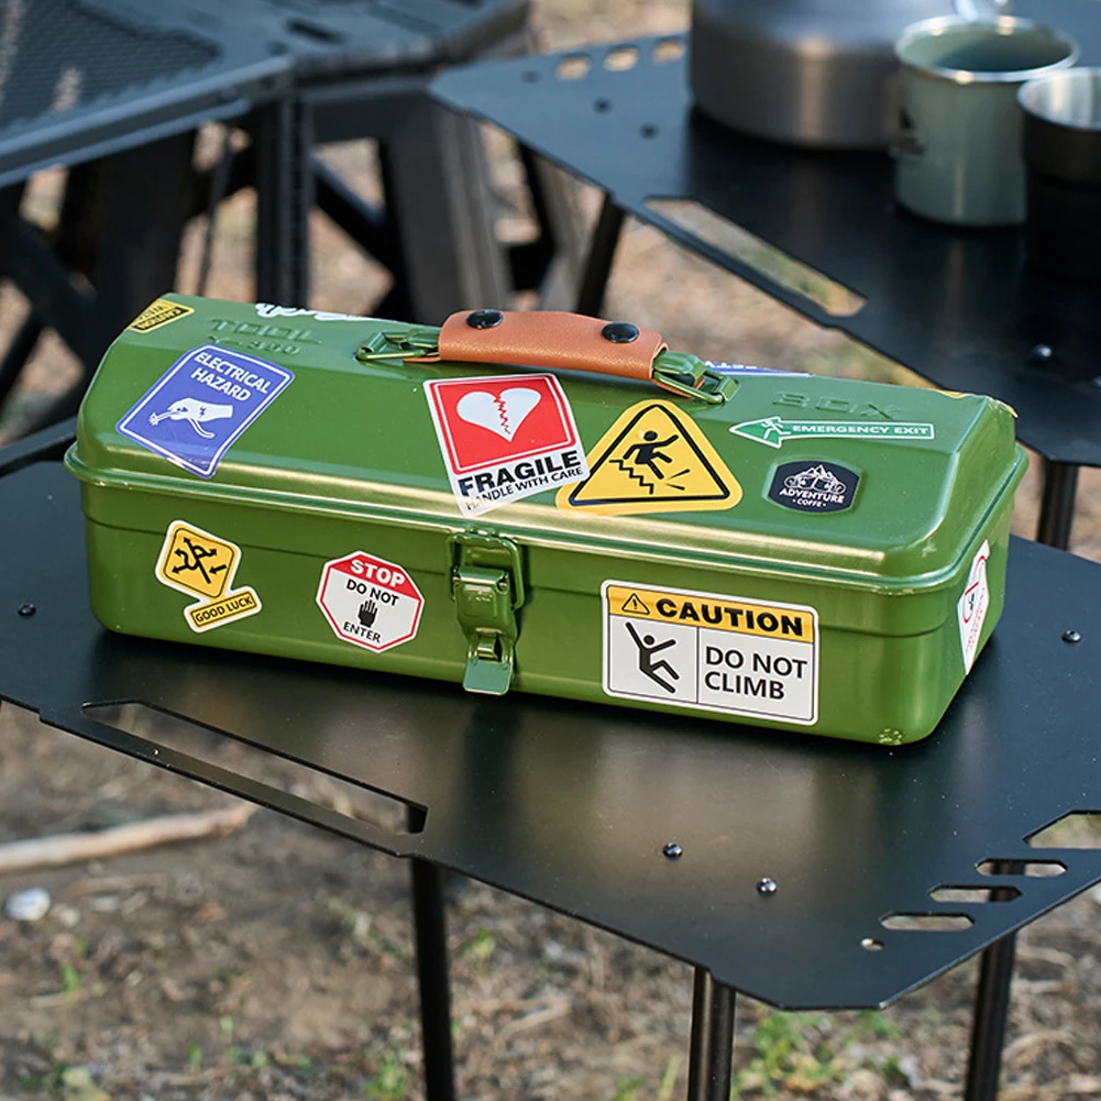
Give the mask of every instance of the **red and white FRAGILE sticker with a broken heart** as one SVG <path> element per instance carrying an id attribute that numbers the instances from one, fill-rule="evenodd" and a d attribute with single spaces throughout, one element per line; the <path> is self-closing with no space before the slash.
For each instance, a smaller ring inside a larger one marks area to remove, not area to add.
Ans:
<path id="1" fill-rule="evenodd" d="M 464 515 L 588 478 L 574 412 L 553 374 L 436 379 L 424 389 Z"/>

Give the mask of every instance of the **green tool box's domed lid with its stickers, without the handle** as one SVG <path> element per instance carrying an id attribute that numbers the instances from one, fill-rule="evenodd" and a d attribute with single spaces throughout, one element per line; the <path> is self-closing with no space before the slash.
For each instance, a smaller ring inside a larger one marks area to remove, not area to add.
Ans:
<path id="1" fill-rule="evenodd" d="M 630 363 L 618 378 L 511 366 L 506 341 L 495 363 L 362 358 L 437 331 L 166 295 L 108 350 L 69 467 L 898 593 L 948 584 L 1023 469 L 1012 412 L 989 397 L 711 363 L 722 400 L 701 400 Z M 569 344 L 549 338 L 542 361 L 568 364 Z"/>

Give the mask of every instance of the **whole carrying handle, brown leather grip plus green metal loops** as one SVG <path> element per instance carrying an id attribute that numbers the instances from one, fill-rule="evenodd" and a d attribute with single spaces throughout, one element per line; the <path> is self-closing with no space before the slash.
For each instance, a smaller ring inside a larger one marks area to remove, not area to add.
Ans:
<path id="1" fill-rule="evenodd" d="M 556 310 L 461 310 L 438 329 L 417 326 L 377 334 L 356 356 L 364 362 L 401 359 L 589 371 L 654 382 L 711 404 L 726 401 L 734 390 L 733 380 L 711 371 L 704 360 L 668 351 L 654 329 Z"/>

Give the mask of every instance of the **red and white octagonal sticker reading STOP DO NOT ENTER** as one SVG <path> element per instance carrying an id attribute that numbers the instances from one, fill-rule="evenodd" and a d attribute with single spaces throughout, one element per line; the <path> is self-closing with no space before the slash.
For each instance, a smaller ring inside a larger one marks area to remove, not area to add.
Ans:
<path id="1" fill-rule="evenodd" d="M 402 566 L 355 550 L 325 564 L 317 606 L 338 639 L 381 654 L 416 634 L 424 597 Z"/>

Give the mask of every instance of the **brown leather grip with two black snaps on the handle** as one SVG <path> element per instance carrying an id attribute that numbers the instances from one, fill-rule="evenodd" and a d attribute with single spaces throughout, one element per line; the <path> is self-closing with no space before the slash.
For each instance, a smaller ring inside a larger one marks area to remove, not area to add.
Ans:
<path id="1" fill-rule="evenodd" d="M 654 360 L 665 347 L 653 329 L 555 310 L 462 310 L 451 314 L 439 330 L 442 360 L 549 367 L 642 380 L 652 378 Z"/>

